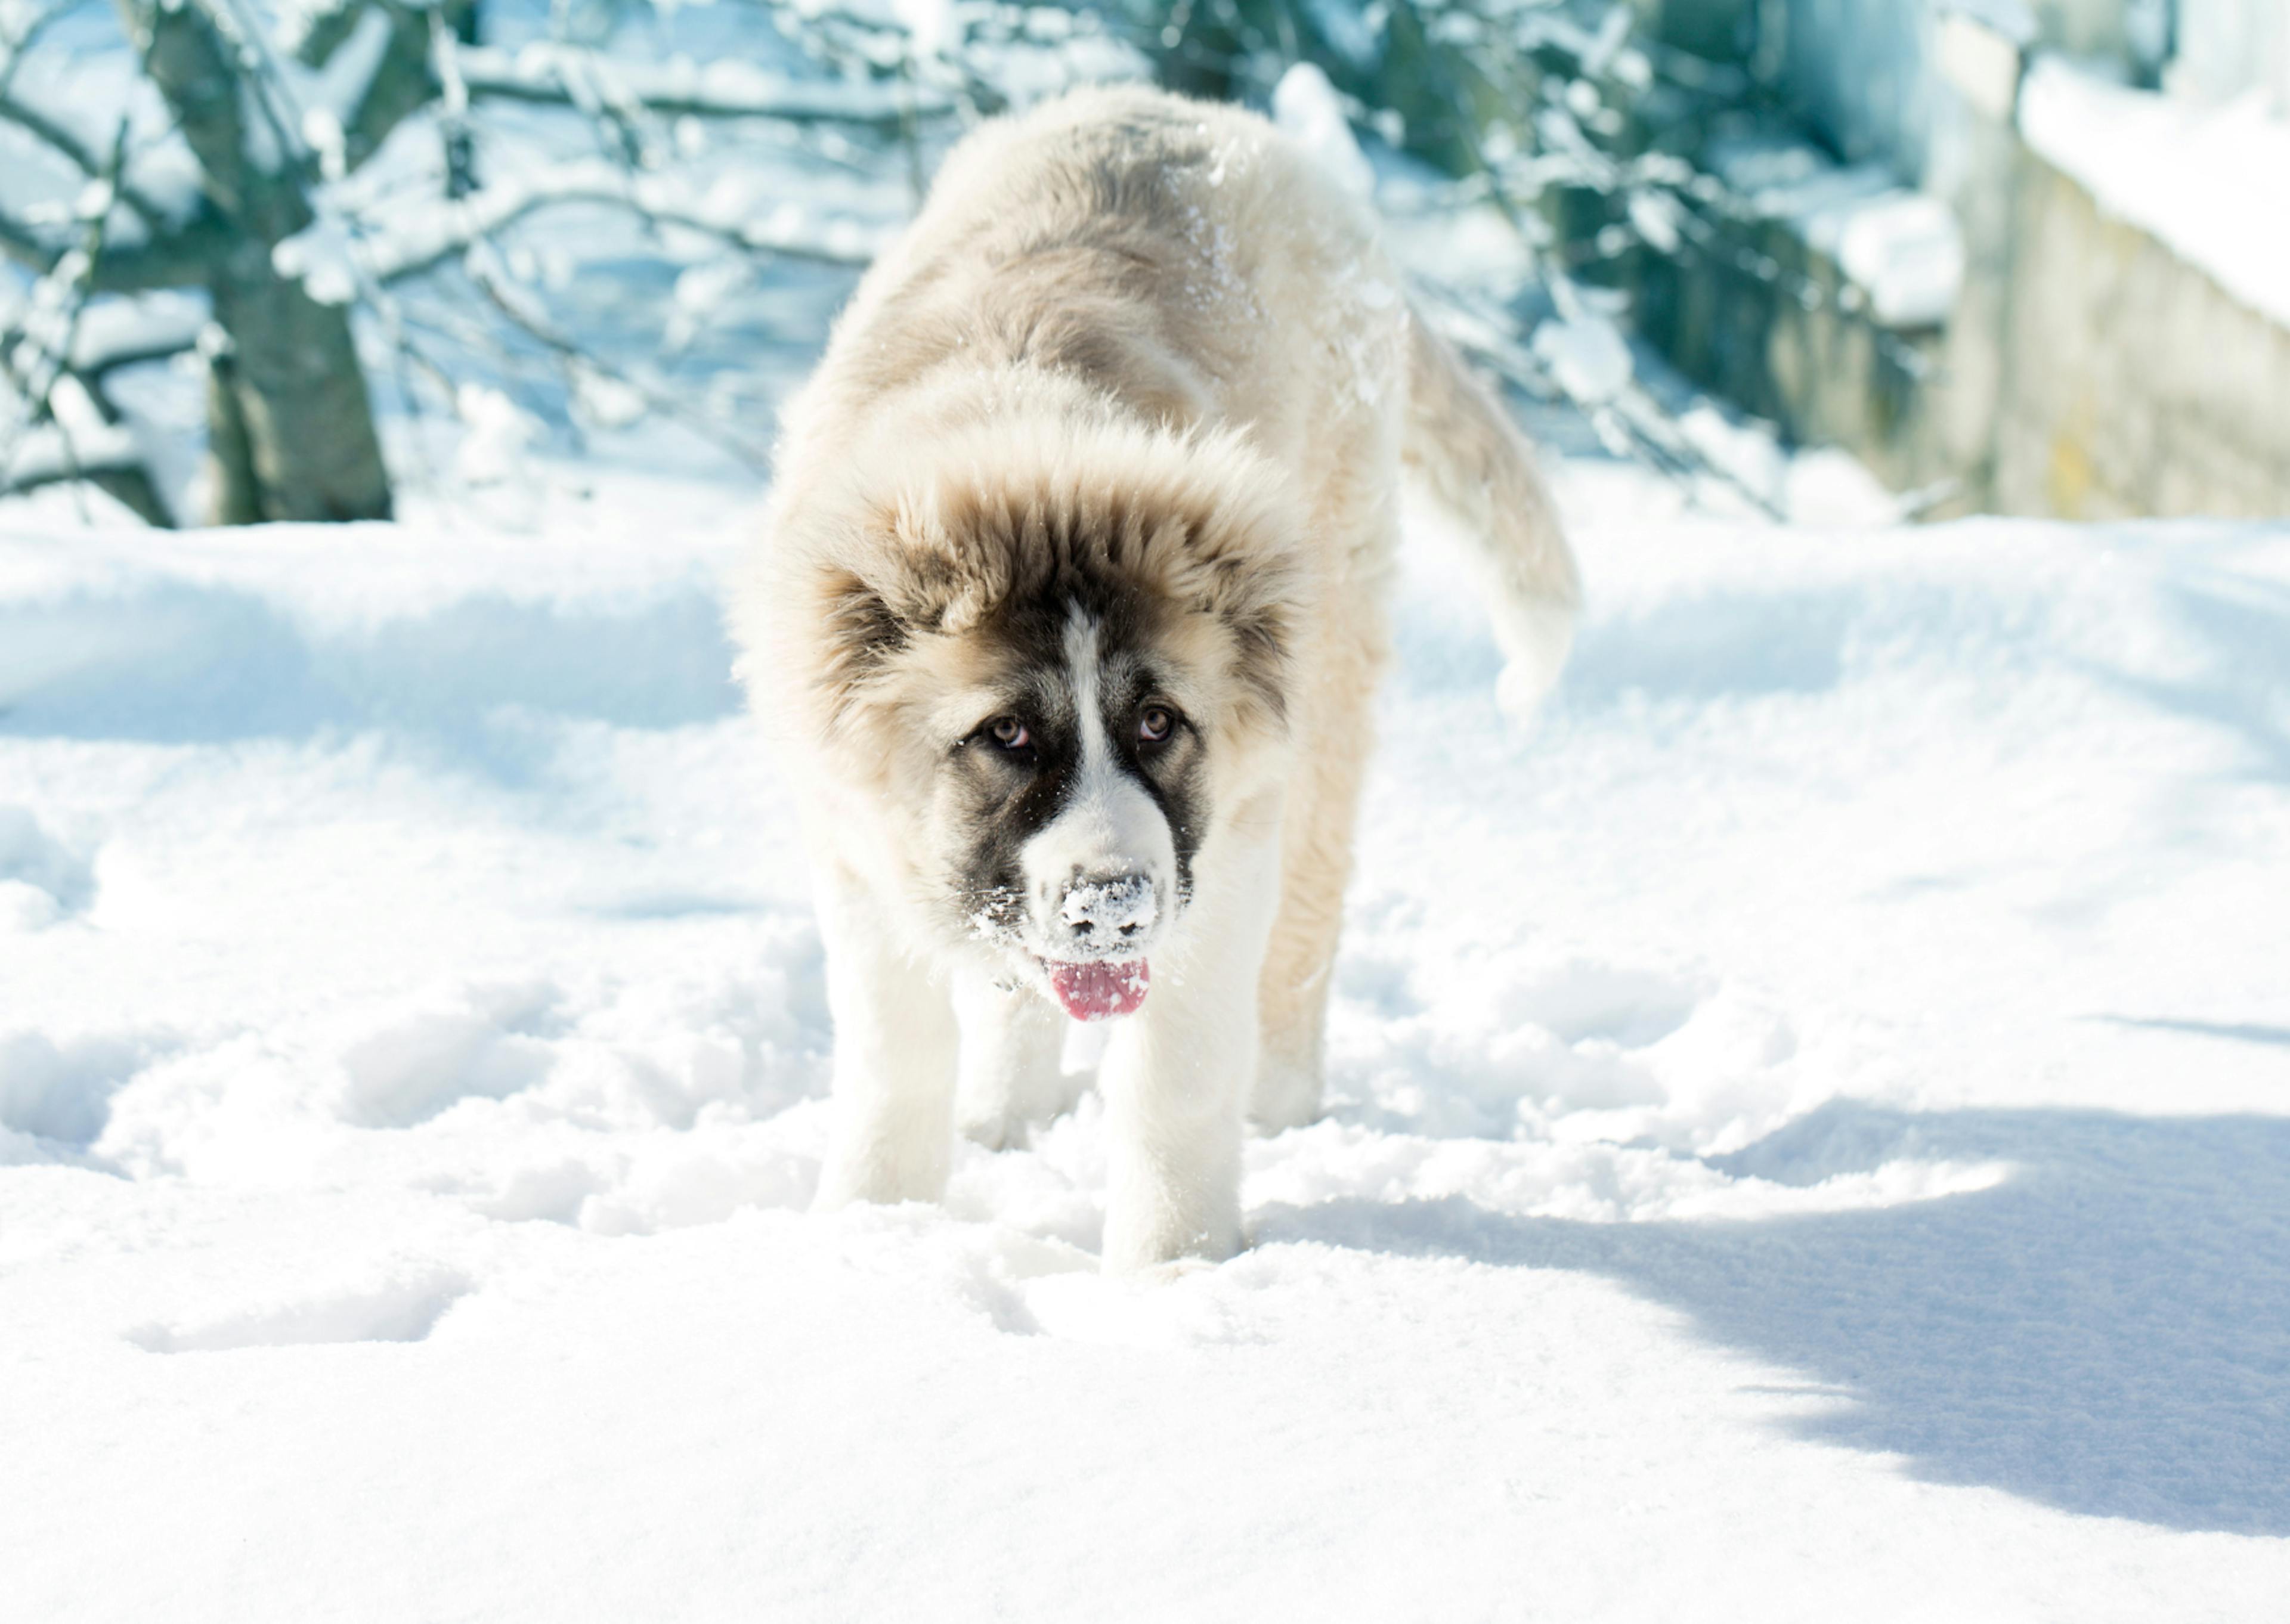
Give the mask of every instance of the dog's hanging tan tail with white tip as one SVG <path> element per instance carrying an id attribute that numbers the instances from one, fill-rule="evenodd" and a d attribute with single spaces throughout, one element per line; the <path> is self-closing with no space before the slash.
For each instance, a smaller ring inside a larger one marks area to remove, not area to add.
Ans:
<path id="1" fill-rule="evenodd" d="M 1566 664 L 1582 580 L 1525 435 L 1422 312 L 1408 328 L 1406 460 L 1477 543 L 1505 662 L 1495 696 L 1525 717 Z"/>

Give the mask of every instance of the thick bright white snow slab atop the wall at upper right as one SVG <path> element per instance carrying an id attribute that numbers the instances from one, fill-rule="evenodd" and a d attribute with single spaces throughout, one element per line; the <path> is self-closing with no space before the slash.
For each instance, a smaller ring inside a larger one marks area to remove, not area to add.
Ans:
<path id="1" fill-rule="evenodd" d="M 2020 135 L 2102 211 L 2290 325 L 2290 119 L 2265 96 L 2203 108 L 2036 57 Z"/>

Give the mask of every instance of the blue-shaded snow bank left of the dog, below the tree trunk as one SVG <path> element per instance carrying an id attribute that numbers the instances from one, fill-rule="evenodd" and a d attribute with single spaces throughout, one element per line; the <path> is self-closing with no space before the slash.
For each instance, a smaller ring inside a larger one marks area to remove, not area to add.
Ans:
<path id="1" fill-rule="evenodd" d="M 485 538 L 431 573 L 385 527 L 172 543 L 0 538 L 0 726 L 463 733 L 508 708 L 673 726 L 737 703 L 710 552 L 570 563 Z"/>

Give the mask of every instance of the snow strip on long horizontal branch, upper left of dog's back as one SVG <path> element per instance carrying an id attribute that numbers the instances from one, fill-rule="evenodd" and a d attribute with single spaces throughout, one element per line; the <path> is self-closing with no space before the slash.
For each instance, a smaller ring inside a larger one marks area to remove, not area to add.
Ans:
<path id="1" fill-rule="evenodd" d="M 925 85 L 792 80 L 747 62 L 611 62 L 598 50 L 559 44 L 518 53 L 465 46 L 456 60 L 472 98 L 538 101 L 591 112 L 637 103 L 664 115 L 861 124 L 884 131 L 902 128 L 916 117 L 955 112 L 946 92 Z"/>

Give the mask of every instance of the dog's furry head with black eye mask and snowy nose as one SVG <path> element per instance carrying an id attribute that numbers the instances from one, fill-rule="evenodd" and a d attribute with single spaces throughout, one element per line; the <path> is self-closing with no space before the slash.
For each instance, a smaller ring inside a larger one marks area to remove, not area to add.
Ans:
<path id="1" fill-rule="evenodd" d="M 783 625 L 909 896 L 1067 1012 L 1134 1010 L 1202 845 L 1287 735 L 1308 591 L 1287 490 L 1232 437 L 1005 431 L 834 529 Z"/>

